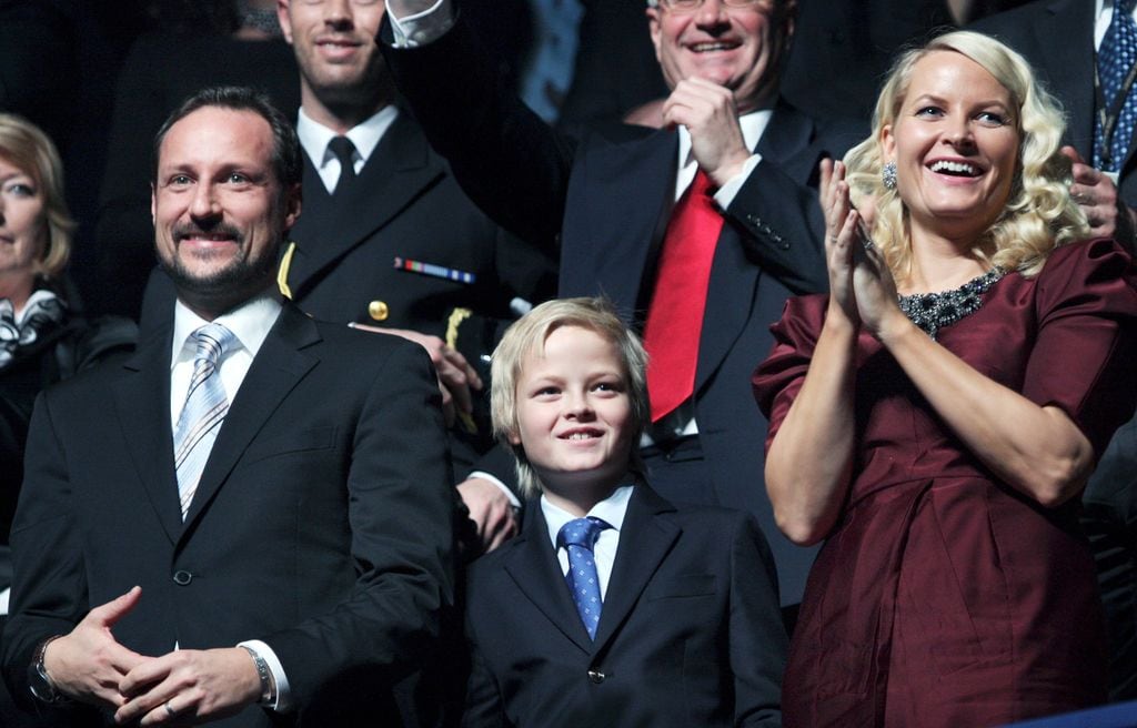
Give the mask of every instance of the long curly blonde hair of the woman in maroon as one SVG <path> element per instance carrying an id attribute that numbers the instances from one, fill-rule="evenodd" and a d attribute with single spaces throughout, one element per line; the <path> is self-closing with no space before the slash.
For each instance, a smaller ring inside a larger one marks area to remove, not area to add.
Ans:
<path id="1" fill-rule="evenodd" d="M 1019 131 L 1011 194 L 1003 212 L 976 241 L 972 253 L 1005 270 L 1037 275 L 1056 246 L 1089 236 L 1086 216 L 1070 196 L 1070 160 L 1059 152 L 1065 120 L 1062 106 L 1036 81 L 1022 56 L 981 33 L 940 35 L 923 48 L 904 52 L 893 65 L 873 111 L 872 135 L 845 156 L 854 203 L 862 196 L 875 201 L 873 242 L 893 275 L 906 277 L 912 265 L 908 214 L 897 190 L 886 189 L 881 178 L 881 129 L 895 125 L 913 67 L 932 51 L 970 58 L 1011 93 L 1015 107 L 1012 122 Z"/>

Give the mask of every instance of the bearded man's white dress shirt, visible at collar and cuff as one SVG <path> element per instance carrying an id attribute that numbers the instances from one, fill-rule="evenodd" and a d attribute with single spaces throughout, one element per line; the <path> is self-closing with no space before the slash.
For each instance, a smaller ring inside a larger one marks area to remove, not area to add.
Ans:
<path id="1" fill-rule="evenodd" d="M 214 319 L 215 323 L 233 332 L 236 338 L 233 346 L 222 354 L 217 365 L 222 385 L 225 387 L 225 396 L 230 403 L 233 402 L 238 390 L 241 388 L 244 375 L 249 373 L 254 358 L 260 351 L 260 345 L 265 343 L 268 330 L 276 323 L 281 310 L 279 295 L 266 292 Z M 171 429 L 177 426 L 177 417 L 182 413 L 182 407 L 185 404 L 185 396 L 190 388 L 190 379 L 193 377 L 197 343 L 191 340 L 191 335 L 206 324 L 209 321 L 186 308 L 181 300 L 174 304 L 174 341 L 169 367 Z M 281 664 L 272 647 L 259 639 L 242 642 L 236 646 L 249 647 L 264 659 L 276 681 L 276 702 L 272 708 L 276 711 L 288 710 L 291 698 L 288 676 L 284 675 L 284 666 Z M 176 644 L 174 648 L 177 648 Z"/>

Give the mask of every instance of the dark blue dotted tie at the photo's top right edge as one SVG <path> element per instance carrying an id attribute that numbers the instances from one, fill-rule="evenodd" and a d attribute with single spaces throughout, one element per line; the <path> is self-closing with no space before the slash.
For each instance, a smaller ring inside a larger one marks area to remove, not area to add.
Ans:
<path id="1" fill-rule="evenodd" d="M 1097 76 L 1102 84 L 1102 101 L 1105 109 L 1114 108 L 1126 76 L 1137 64 L 1137 22 L 1134 20 L 1134 2 L 1137 0 L 1114 0 L 1113 19 L 1097 49 Z M 1117 171 L 1129 151 L 1134 123 L 1137 122 L 1137 92 L 1130 91 L 1118 117 L 1113 136 L 1105 149 L 1105 131 L 1101 114 L 1094 131 L 1094 166 L 1105 171 Z"/>

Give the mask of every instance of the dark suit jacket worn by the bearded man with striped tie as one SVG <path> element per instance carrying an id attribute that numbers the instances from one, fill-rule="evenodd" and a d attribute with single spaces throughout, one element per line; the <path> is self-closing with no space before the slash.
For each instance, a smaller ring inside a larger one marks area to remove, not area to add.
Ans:
<path id="1" fill-rule="evenodd" d="M 263 639 L 307 725 L 357 725 L 367 712 L 339 698 L 382 705 L 428 658 L 451 601 L 453 487 L 430 362 L 287 306 L 183 524 L 169 355 L 167 326 L 36 404 L 3 636 L 13 693 L 27 696 L 40 642 L 138 584 L 141 602 L 114 628 L 128 648 Z M 219 725 L 271 722 L 250 708 Z"/>

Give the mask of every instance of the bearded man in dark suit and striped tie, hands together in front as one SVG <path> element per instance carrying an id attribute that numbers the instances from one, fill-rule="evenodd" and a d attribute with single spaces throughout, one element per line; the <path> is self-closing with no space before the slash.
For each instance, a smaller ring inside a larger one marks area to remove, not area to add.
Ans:
<path id="1" fill-rule="evenodd" d="M 6 678 L 51 725 L 397 721 L 453 597 L 428 357 L 281 301 L 300 161 L 264 97 L 205 90 L 156 150 L 177 298 L 36 403 Z"/>

